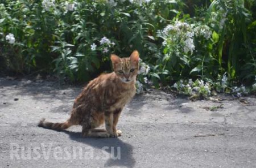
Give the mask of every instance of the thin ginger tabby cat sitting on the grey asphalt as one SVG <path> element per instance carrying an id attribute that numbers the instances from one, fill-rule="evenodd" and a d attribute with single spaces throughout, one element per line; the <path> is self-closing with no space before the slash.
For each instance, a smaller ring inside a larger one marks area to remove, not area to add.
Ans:
<path id="1" fill-rule="evenodd" d="M 77 96 L 71 117 L 64 123 L 40 120 L 38 126 L 52 130 L 65 130 L 73 125 L 82 126 L 83 137 L 118 137 L 118 118 L 123 107 L 134 97 L 136 77 L 139 71 L 139 53 L 134 50 L 130 57 L 110 57 L 113 72 L 103 74 L 92 81 Z M 104 129 L 95 129 L 105 123 Z"/>

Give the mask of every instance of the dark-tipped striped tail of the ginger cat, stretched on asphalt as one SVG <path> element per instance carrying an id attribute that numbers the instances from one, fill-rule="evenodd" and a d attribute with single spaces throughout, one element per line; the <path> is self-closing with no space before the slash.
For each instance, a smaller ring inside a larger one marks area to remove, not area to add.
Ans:
<path id="1" fill-rule="evenodd" d="M 43 127 L 43 128 L 52 129 L 52 130 L 65 130 L 65 129 L 71 127 L 72 124 L 68 120 L 66 122 L 64 122 L 64 123 L 46 122 L 46 119 L 43 118 L 38 123 L 38 126 L 39 127 Z"/>

